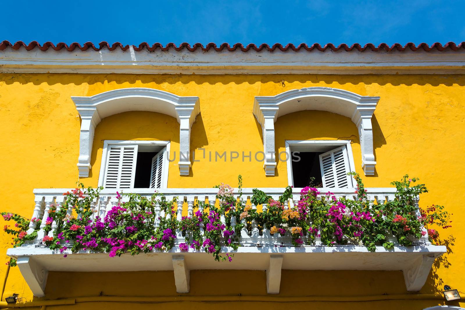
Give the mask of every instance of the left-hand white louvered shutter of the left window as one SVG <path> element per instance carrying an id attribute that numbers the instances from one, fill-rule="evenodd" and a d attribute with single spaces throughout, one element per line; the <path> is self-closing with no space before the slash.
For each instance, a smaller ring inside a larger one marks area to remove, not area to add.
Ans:
<path id="1" fill-rule="evenodd" d="M 105 187 L 134 187 L 136 161 L 137 145 L 110 146 L 106 159 Z"/>

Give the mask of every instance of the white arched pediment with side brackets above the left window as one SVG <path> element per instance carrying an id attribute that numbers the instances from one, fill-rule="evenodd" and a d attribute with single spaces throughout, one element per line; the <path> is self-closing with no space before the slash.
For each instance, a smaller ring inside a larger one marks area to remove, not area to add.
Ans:
<path id="1" fill-rule="evenodd" d="M 127 111 L 151 111 L 176 117 L 179 123 L 179 173 L 188 175 L 191 127 L 200 112 L 199 97 L 179 97 L 150 88 L 110 90 L 91 97 L 71 97 L 81 116 L 79 176 L 88 177 L 93 135 L 101 119 Z M 182 155 L 181 155 L 182 154 Z"/>

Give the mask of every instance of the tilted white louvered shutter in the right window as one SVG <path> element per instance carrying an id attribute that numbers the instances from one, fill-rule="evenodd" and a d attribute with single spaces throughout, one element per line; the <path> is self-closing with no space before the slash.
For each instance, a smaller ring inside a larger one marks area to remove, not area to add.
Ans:
<path id="1" fill-rule="evenodd" d="M 349 159 L 345 146 L 319 155 L 323 187 L 352 187 Z"/>

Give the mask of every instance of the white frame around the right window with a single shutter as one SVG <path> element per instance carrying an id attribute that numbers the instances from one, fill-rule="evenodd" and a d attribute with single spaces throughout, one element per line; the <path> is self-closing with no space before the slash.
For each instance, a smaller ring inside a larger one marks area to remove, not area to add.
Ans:
<path id="1" fill-rule="evenodd" d="M 311 152 L 312 146 L 333 146 L 334 148 L 344 146 L 347 150 L 347 158 L 349 159 L 349 169 L 350 171 L 355 171 L 355 164 L 353 161 L 353 154 L 352 154 L 352 146 L 350 140 L 285 140 L 286 142 L 286 165 L 287 165 L 287 184 L 289 186 L 294 186 L 294 178 L 292 175 L 292 154 L 291 148 L 293 146 L 300 146 L 300 147 L 309 147 L 309 151 Z M 352 187 L 357 184 L 353 177 L 351 177 Z"/>

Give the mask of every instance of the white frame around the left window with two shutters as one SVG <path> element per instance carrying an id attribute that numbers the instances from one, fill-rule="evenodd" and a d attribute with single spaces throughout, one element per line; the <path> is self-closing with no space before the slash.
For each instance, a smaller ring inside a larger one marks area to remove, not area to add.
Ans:
<path id="1" fill-rule="evenodd" d="M 99 174 L 99 186 L 104 186 L 105 180 L 105 170 L 106 170 L 106 159 L 108 157 L 108 151 L 112 146 L 127 144 L 137 144 L 137 145 L 149 145 L 149 146 L 161 146 L 166 147 L 166 157 L 163 158 L 163 165 L 166 167 L 163 173 L 163 179 L 161 182 L 161 188 L 168 187 L 168 168 L 169 168 L 169 156 L 170 156 L 170 141 L 149 141 L 149 140 L 104 140 L 103 141 L 103 151 L 102 151 L 102 162 L 100 164 L 100 174 Z M 136 154 L 137 156 L 137 154 Z M 150 169 L 150 167 L 149 167 Z"/>

